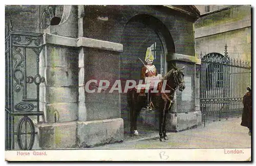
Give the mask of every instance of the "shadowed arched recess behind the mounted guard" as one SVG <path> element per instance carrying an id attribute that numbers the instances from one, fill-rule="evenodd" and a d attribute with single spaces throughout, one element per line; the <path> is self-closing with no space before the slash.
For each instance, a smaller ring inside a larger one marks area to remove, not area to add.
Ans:
<path id="1" fill-rule="evenodd" d="M 167 72 L 166 57 L 175 53 L 175 44 L 167 27 L 157 18 L 150 15 L 136 15 L 130 19 L 123 31 L 121 44 L 123 52 L 120 56 L 120 79 L 122 86 L 125 80 L 138 81 L 141 76 L 142 61 L 145 59 L 146 49 L 151 47 L 154 55 L 154 65 L 157 73 L 165 75 Z M 129 108 L 127 107 L 126 94 L 121 94 L 121 118 L 124 120 L 124 133 L 129 132 Z M 154 115 L 152 115 L 154 116 Z M 153 118 L 155 119 L 155 118 Z M 156 119 L 158 119 L 156 117 Z M 138 119 L 138 124 L 142 120 Z M 150 122 L 152 125 L 157 122 Z"/>

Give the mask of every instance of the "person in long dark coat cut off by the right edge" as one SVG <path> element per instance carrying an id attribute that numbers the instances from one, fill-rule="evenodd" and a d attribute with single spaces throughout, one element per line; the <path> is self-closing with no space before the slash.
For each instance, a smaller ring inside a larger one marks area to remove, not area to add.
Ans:
<path id="1" fill-rule="evenodd" d="M 251 135 L 251 119 L 252 119 L 252 97 L 251 97 L 251 88 L 247 88 L 248 92 L 243 97 L 243 114 L 241 126 L 248 127 L 249 135 Z"/>

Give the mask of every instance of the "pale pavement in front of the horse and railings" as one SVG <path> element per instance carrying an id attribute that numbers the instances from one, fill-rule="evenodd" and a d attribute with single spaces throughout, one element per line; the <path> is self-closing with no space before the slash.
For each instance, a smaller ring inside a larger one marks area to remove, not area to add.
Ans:
<path id="1" fill-rule="evenodd" d="M 240 118 L 231 118 L 216 122 L 209 122 L 194 129 L 171 132 L 169 140 L 160 142 L 158 131 L 143 131 L 137 137 L 124 134 L 122 143 L 109 144 L 93 149 L 190 149 L 190 148 L 251 148 L 251 136 L 248 129 L 240 125 Z"/>

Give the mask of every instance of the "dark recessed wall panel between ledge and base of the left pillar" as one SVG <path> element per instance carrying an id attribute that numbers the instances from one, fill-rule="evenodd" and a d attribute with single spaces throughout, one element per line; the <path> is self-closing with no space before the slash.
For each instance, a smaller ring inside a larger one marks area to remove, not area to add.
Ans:
<path id="1" fill-rule="evenodd" d="M 110 87 L 113 87 L 115 81 L 119 79 L 119 52 L 93 48 L 88 48 L 85 52 L 87 52 L 84 58 L 85 84 L 91 79 L 97 80 L 98 84 L 100 80 L 108 80 Z M 92 83 L 91 86 L 94 84 Z M 118 91 L 110 93 L 110 90 L 109 88 L 97 93 L 98 89 L 96 89 L 95 93 L 85 93 L 87 121 L 120 118 L 120 93 Z"/>

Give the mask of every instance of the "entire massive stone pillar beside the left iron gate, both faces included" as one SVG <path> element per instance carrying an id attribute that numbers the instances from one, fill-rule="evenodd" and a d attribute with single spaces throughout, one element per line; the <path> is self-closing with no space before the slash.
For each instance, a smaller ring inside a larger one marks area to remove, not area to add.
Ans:
<path id="1" fill-rule="evenodd" d="M 84 148 L 123 140 L 120 94 L 87 93 L 86 82 L 120 75 L 119 43 L 83 37 L 83 6 L 65 6 L 59 25 L 48 27 L 40 55 L 44 124 L 38 125 L 42 149 Z"/>

